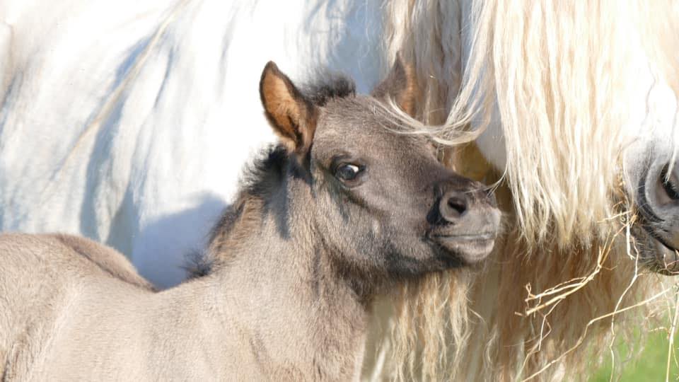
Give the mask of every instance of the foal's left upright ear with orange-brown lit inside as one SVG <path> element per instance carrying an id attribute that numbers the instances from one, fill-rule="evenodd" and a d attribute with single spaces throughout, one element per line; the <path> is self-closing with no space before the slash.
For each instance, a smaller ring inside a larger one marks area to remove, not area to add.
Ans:
<path id="1" fill-rule="evenodd" d="M 318 110 L 272 61 L 262 72 L 260 98 L 267 120 L 282 143 L 290 152 L 306 155 L 316 129 Z"/>

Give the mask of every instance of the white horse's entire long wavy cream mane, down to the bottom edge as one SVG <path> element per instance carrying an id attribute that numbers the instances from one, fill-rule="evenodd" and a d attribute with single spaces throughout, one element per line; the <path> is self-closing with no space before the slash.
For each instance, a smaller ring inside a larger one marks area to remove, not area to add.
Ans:
<path id="1" fill-rule="evenodd" d="M 445 159 L 455 170 L 497 184 L 514 228 L 480 274 L 438 274 L 403 289 L 396 318 L 381 323 L 377 370 L 400 379 L 583 376 L 605 358 L 619 367 L 615 339 L 638 342 L 649 318 L 666 317 L 658 312 L 675 304 L 663 285 L 671 281 L 635 261 L 621 127 L 633 102 L 625 80 L 637 75 L 627 64 L 638 59 L 630 40 L 641 39 L 651 70 L 679 94 L 678 8 L 664 0 L 390 1 L 387 62 L 400 52 L 412 64 L 415 119 L 435 126 L 415 129 L 452 147 Z M 501 122 L 504 173 L 464 144 L 492 118 Z"/>

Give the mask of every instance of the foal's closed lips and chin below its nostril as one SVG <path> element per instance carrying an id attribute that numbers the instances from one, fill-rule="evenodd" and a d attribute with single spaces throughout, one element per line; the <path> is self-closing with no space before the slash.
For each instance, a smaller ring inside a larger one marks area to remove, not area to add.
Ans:
<path id="1" fill-rule="evenodd" d="M 429 236 L 431 241 L 442 248 L 458 255 L 468 264 L 484 260 L 495 245 L 497 232 L 475 234 L 445 234 L 434 233 Z"/>

